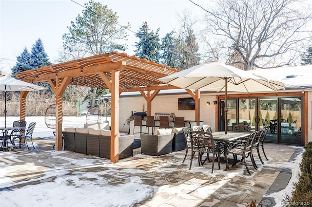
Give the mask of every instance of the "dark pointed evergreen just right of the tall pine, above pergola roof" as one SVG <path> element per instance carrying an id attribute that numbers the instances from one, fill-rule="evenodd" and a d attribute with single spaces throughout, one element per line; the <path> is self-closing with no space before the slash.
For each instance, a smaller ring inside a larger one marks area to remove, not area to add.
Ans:
<path id="1" fill-rule="evenodd" d="M 139 38 L 135 45 L 137 47 L 137 50 L 134 51 L 136 56 L 159 63 L 161 45 L 158 32 L 159 28 L 156 33 L 153 30 L 150 32 L 147 22 L 143 22 L 136 34 L 136 37 Z"/>

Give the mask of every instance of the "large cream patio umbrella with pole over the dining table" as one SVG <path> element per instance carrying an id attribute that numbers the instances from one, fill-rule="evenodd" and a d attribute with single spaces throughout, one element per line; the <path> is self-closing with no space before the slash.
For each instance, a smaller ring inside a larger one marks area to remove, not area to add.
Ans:
<path id="1" fill-rule="evenodd" d="M 253 75 L 215 59 L 159 80 L 179 88 L 225 92 L 225 133 L 228 92 L 254 93 L 285 89 L 282 82 Z"/>

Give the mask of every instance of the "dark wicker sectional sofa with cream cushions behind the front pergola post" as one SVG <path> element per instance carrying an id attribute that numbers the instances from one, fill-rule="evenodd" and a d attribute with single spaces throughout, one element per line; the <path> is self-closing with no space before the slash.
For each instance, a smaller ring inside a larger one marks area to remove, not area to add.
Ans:
<path id="1" fill-rule="evenodd" d="M 108 123 L 85 124 L 85 128 L 65 128 L 64 150 L 110 159 L 111 131 Z M 119 159 L 133 156 L 134 135 L 119 136 Z"/>

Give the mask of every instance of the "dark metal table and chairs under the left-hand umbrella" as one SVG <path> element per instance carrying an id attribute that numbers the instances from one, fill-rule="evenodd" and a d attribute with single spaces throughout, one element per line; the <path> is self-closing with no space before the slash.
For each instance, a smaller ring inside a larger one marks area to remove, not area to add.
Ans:
<path id="1" fill-rule="evenodd" d="M 2 140 L 1 149 L 2 151 L 9 151 L 10 149 L 14 150 L 16 148 L 15 141 L 19 140 L 20 148 L 22 141 L 24 145 L 27 146 L 27 149 L 29 149 L 27 140 L 31 140 L 31 143 L 34 147 L 32 134 L 34 132 L 36 122 L 31 122 L 28 127 L 26 127 L 27 122 L 24 120 L 17 120 L 13 122 L 12 127 L 0 127 L 0 130 L 2 131 L 2 135 L 0 135 L 0 140 Z M 11 132 L 10 132 L 11 131 Z M 10 133 L 9 133 L 10 132 Z M 9 147 L 9 140 L 12 144 L 12 147 Z"/>

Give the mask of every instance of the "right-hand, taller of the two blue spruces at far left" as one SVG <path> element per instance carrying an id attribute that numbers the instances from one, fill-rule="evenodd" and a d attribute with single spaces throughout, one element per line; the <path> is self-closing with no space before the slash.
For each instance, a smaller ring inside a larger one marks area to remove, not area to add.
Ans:
<path id="1" fill-rule="evenodd" d="M 39 38 L 31 48 L 31 68 L 40 68 L 47 65 L 52 65 L 48 55 L 44 51 L 41 39 Z"/>

